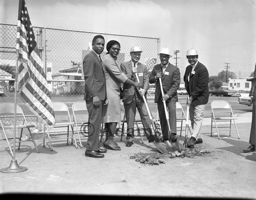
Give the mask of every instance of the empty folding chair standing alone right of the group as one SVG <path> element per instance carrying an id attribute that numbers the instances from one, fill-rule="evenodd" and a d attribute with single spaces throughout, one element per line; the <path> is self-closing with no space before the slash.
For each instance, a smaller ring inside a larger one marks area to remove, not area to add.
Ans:
<path id="1" fill-rule="evenodd" d="M 218 114 L 217 112 L 218 111 Z M 211 102 L 211 131 L 210 136 L 212 137 L 212 128 L 216 128 L 218 138 L 220 139 L 219 131 L 227 131 L 229 130 L 229 136 L 231 135 L 232 130 L 236 130 L 238 134 L 238 139 L 240 139 L 238 128 L 235 119 L 238 119 L 234 116 L 232 108 L 230 104 L 226 101 L 213 101 Z M 217 127 L 217 122 L 224 122 L 222 123 L 221 127 Z M 231 122 L 233 121 L 235 129 L 231 129 Z M 215 122 L 215 125 L 212 123 Z M 226 123 L 229 124 L 229 126 L 226 125 Z M 214 127 L 215 126 L 215 127 Z M 220 129 L 224 128 L 224 129 Z M 227 129 L 228 128 L 228 129 Z"/>

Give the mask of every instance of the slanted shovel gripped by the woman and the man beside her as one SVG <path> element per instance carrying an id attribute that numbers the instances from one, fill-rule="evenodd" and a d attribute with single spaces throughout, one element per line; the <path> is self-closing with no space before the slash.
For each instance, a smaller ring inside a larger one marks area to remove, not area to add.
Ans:
<path id="1" fill-rule="evenodd" d="M 136 76 L 138 82 L 140 82 L 137 72 L 135 73 L 135 76 Z M 155 133 L 155 135 L 157 135 L 157 133 L 159 133 L 159 132 L 156 131 L 157 130 L 156 124 L 155 124 L 155 122 L 154 122 L 154 120 L 152 118 L 152 115 L 151 115 L 151 112 L 150 112 L 150 108 L 148 107 L 147 102 L 146 102 L 146 98 L 145 98 L 144 95 L 142 95 L 142 98 L 143 98 L 143 101 L 144 101 L 145 106 L 146 106 L 147 114 L 150 117 L 150 121 L 151 121 L 153 130 L 154 130 L 154 133 Z M 168 154 L 168 151 L 167 151 L 166 147 L 160 141 L 157 141 L 157 138 L 155 139 L 155 141 L 153 143 L 155 144 L 155 146 L 157 147 L 159 152 L 161 152 L 162 154 Z"/>

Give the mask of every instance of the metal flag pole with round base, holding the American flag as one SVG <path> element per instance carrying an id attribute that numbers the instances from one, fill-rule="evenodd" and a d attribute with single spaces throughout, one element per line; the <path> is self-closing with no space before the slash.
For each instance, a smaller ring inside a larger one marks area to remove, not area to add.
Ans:
<path id="1" fill-rule="evenodd" d="M 21 10 L 22 6 L 22 0 L 19 0 L 19 12 Z M 14 83 L 14 88 L 15 88 L 15 94 L 14 94 L 14 129 L 13 129 L 13 156 L 11 163 L 9 167 L 5 167 L 1 169 L 0 171 L 3 173 L 17 173 L 17 172 L 22 172 L 26 171 L 28 168 L 27 167 L 21 167 L 18 165 L 17 160 L 15 159 L 15 143 L 16 143 L 16 109 L 17 109 L 17 78 L 18 78 L 18 54 L 19 54 L 19 48 L 16 48 L 16 70 L 15 70 L 15 83 Z"/>

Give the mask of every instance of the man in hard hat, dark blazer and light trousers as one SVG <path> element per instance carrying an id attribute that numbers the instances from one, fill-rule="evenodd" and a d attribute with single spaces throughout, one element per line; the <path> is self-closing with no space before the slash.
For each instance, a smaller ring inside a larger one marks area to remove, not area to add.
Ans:
<path id="1" fill-rule="evenodd" d="M 200 137 L 200 129 L 209 99 L 209 73 L 207 68 L 198 62 L 198 52 L 195 48 L 189 48 L 186 57 L 190 65 L 186 67 L 183 79 L 189 95 L 187 105 L 189 106 L 189 117 L 193 128 L 193 133 L 187 143 L 187 147 L 190 148 L 194 147 L 196 143 L 203 142 Z"/>

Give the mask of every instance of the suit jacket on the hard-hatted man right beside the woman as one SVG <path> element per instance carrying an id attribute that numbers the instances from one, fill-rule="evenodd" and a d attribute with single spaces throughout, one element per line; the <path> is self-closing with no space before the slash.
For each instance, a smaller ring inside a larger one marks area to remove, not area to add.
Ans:
<path id="1" fill-rule="evenodd" d="M 135 74 L 132 75 L 132 69 L 133 69 L 132 61 L 123 62 L 123 63 L 121 63 L 120 67 L 121 67 L 122 72 L 125 74 L 125 76 L 128 79 L 138 82 L 137 78 L 135 77 Z M 143 85 L 142 88 L 147 91 L 148 88 L 150 87 L 150 84 L 148 82 L 149 79 L 148 79 L 148 71 L 147 71 L 146 65 L 138 62 L 137 69 L 138 69 L 139 81 Z M 123 84 L 123 95 L 124 95 L 123 103 L 129 104 L 132 102 L 135 90 L 139 91 L 140 88 L 135 88 L 134 86 L 132 86 L 130 84 Z M 140 96 L 141 96 L 141 94 L 140 94 Z"/>

